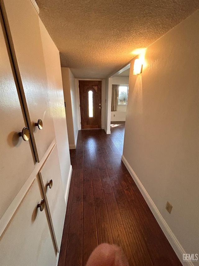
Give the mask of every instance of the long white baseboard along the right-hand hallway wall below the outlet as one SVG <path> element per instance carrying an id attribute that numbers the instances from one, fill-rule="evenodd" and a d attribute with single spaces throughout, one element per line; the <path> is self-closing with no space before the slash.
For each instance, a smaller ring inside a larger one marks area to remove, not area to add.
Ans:
<path id="1" fill-rule="evenodd" d="M 158 208 L 155 206 L 155 203 L 150 198 L 149 194 L 147 193 L 146 189 L 140 182 L 139 178 L 127 162 L 126 158 L 122 155 L 122 161 L 127 167 L 128 172 L 132 176 L 133 180 L 135 181 L 137 187 L 139 188 L 142 196 L 144 197 L 146 203 L 148 204 L 150 210 L 152 211 L 153 215 L 155 216 L 155 219 L 157 220 L 158 224 L 160 225 L 164 235 L 168 239 L 170 245 L 174 249 L 176 255 L 178 256 L 179 260 L 183 264 L 183 266 L 194 266 L 194 264 L 191 261 L 183 261 L 183 254 L 186 254 L 185 250 L 179 243 L 178 239 L 175 237 L 174 233 L 170 229 L 169 225 L 166 223 L 162 215 L 160 214 Z"/>

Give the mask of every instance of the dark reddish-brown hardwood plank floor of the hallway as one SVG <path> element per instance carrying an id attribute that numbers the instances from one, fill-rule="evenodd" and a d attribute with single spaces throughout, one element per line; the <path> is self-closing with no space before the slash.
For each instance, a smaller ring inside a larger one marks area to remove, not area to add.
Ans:
<path id="1" fill-rule="evenodd" d="M 58 266 L 85 266 L 101 243 L 122 247 L 129 265 L 182 266 L 121 161 L 125 122 L 79 131 Z M 95 266 L 95 265 L 94 265 Z"/>

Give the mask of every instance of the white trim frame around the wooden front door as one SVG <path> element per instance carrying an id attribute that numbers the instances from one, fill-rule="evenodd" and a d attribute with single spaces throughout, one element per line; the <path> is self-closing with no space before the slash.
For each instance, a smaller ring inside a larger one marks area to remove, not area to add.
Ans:
<path id="1" fill-rule="evenodd" d="M 76 104 L 78 116 L 78 129 L 81 130 L 81 112 L 80 112 L 80 91 L 79 80 L 99 80 L 102 82 L 102 114 L 101 114 L 101 128 L 104 129 L 104 112 L 105 112 L 105 79 L 76 79 Z"/>

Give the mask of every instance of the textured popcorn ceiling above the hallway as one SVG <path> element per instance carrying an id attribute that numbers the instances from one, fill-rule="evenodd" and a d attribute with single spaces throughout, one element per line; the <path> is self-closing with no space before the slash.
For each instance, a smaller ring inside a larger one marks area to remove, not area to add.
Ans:
<path id="1" fill-rule="evenodd" d="M 199 8 L 199 0 L 36 0 L 76 78 L 106 78 Z M 191 29 L 190 29 L 191 30 Z M 167 56 L 167 55 L 165 55 Z"/>

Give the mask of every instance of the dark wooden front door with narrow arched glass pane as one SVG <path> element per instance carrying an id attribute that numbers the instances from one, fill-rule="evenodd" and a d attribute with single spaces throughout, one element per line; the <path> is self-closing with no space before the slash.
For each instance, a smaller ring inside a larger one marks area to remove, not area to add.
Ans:
<path id="1" fill-rule="evenodd" d="M 101 128 L 101 80 L 79 80 L 81 129 Z"/>

